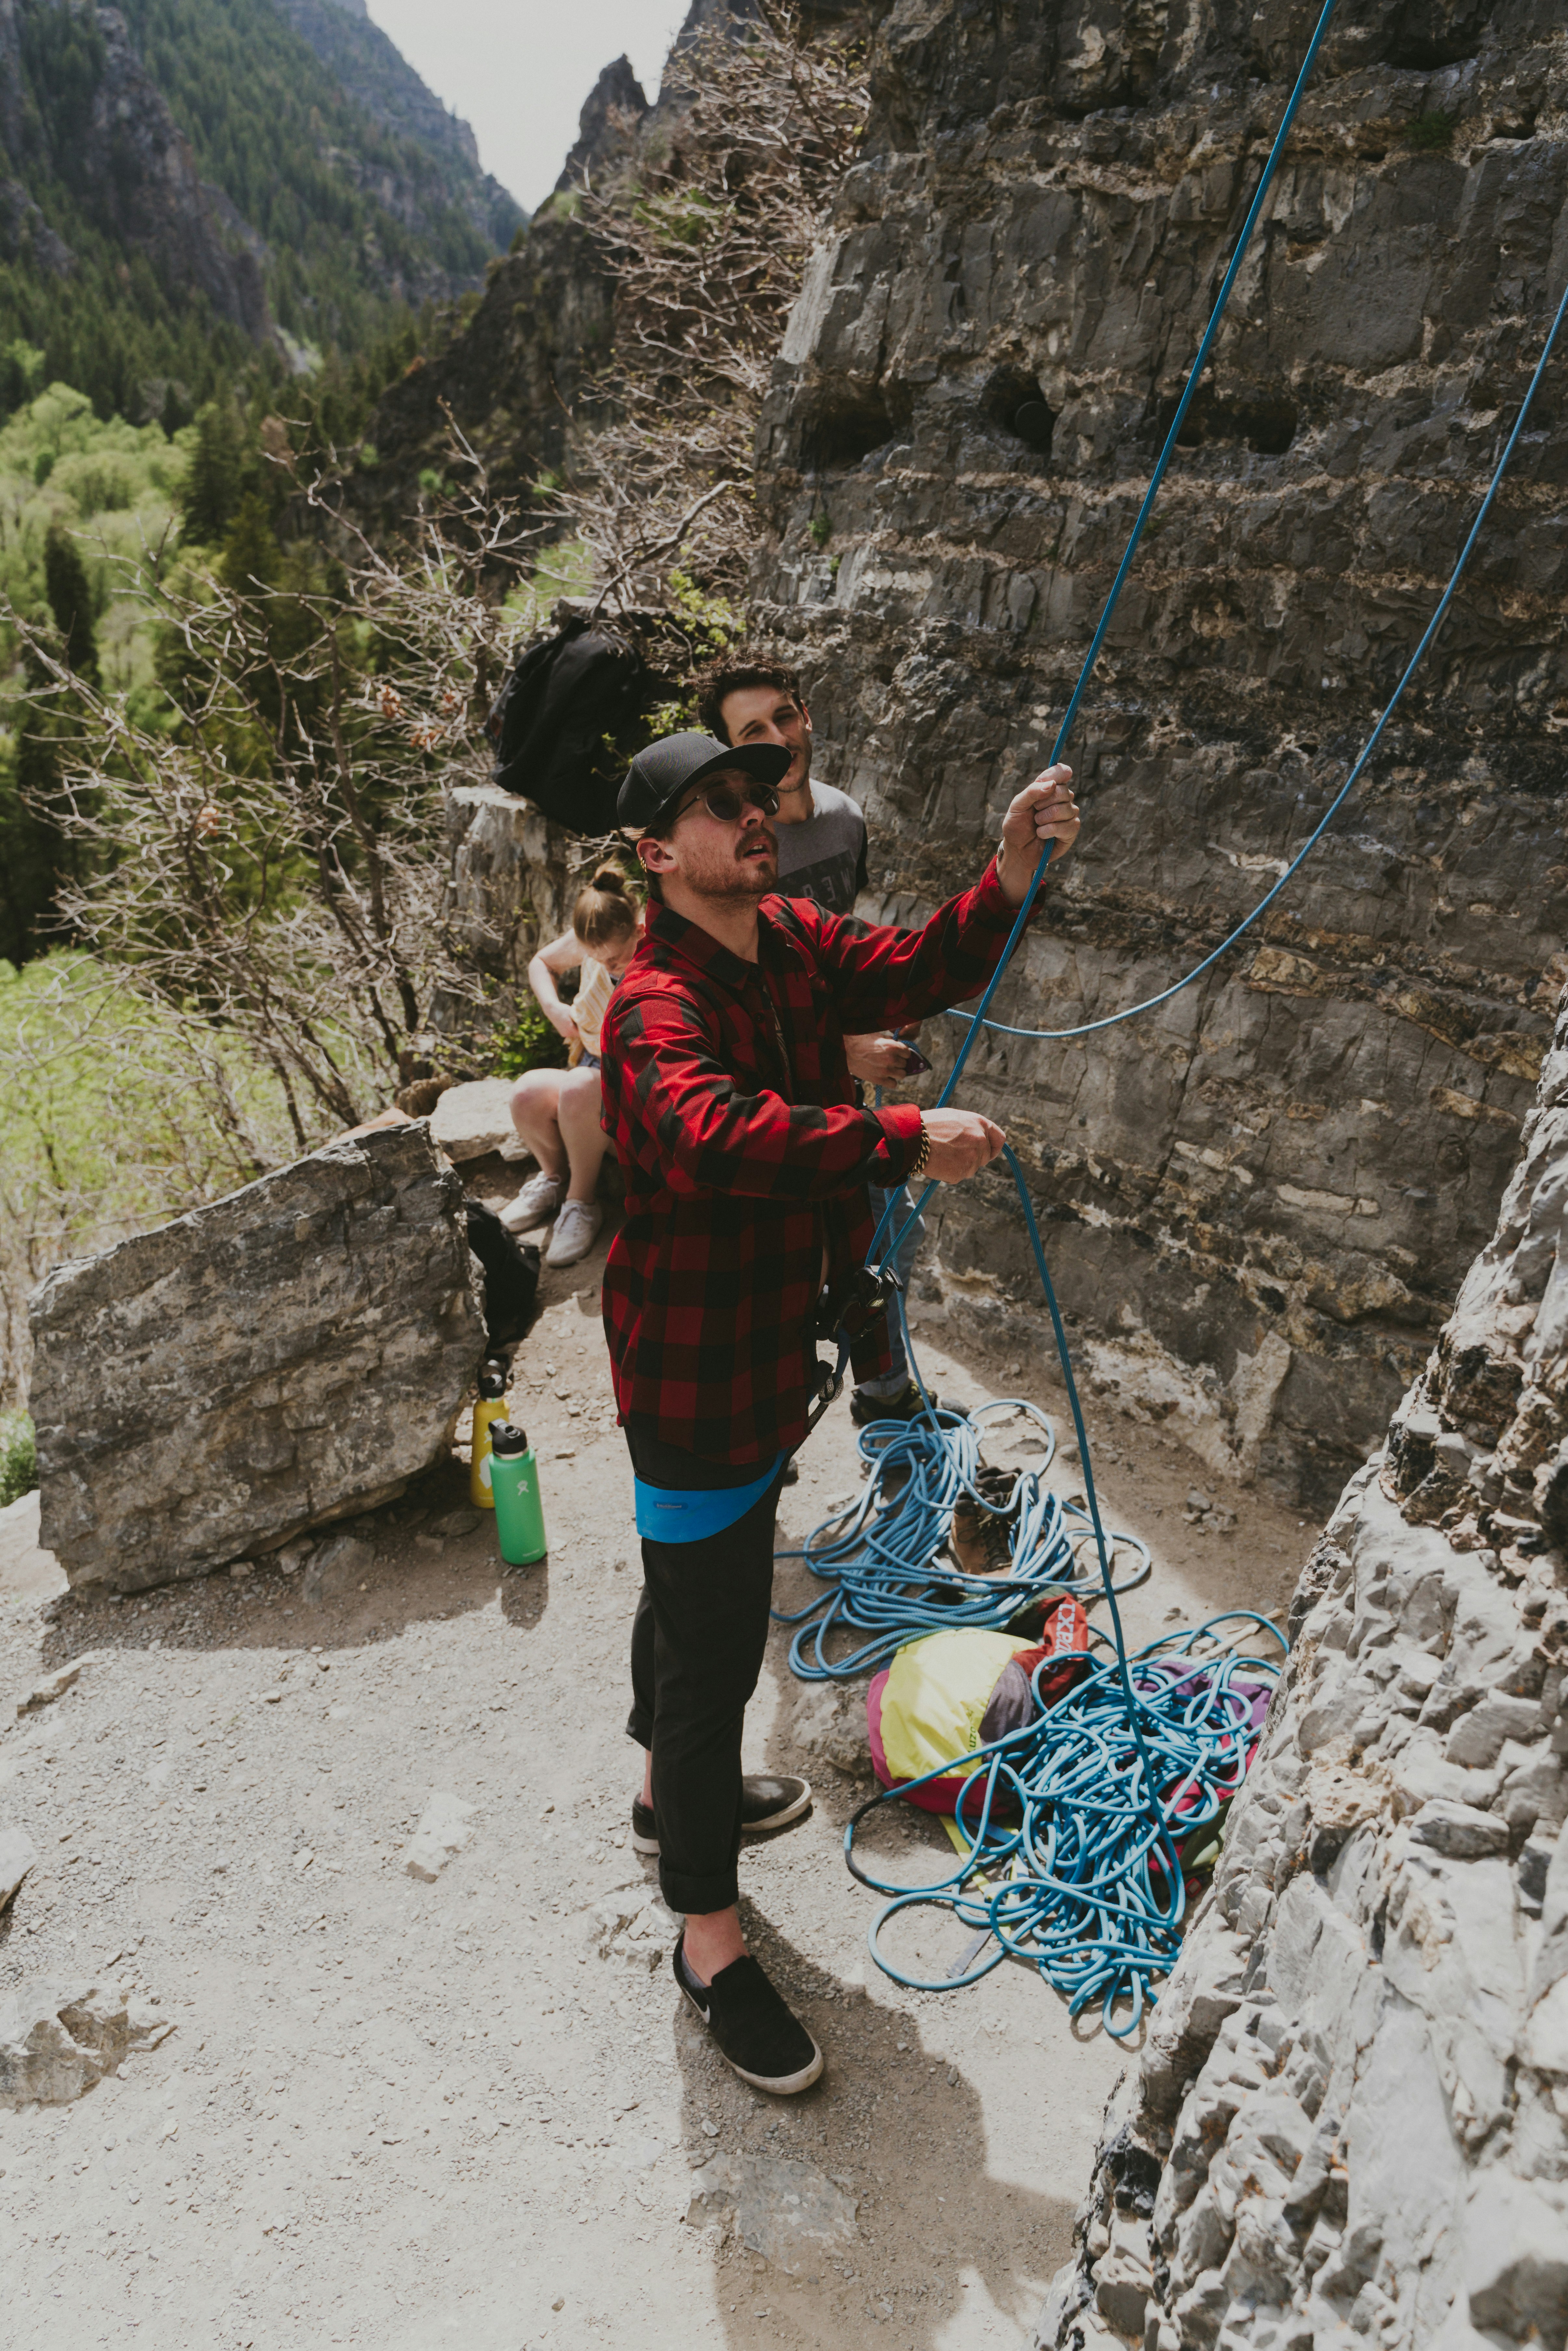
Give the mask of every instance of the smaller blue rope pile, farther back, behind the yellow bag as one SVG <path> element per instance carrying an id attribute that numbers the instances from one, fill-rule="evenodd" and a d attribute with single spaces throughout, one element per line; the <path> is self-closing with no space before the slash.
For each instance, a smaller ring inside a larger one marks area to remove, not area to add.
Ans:
<path id="1" fill-rule="evenodd" d="M 830 1585 L 823 1599 L 780 1615 L 780 1622 L 799 1627 L 790 1667 L 802 1681 L 875 1674 L 919 1632 L 1001 1632 L 1037 1601 L 1067 1592 L 1084 1601 L 1100 1596 L 1098 1566 L 1077 1556 L 1079 1545 L 1093 1542 L 1093 1519 L 1046 1486 L 1056 1453 L 1046 1415 L 1020 1396 L 999 1396 L 976 1413 L 929 1411 L 929 1420 L 877 1420 L 863 1429 L 867 1479 L 858 1498 L 823 1519 L 804 1549 L 776 1554 L 804 1559 Z M 1018 1472 L 1006 1500 L 992 1502 L 976 1488 L 980 1444 L 990 1425 L 1013 1413 L 1039 1427 L 1041 1458 Z M 1009 1521 L 1006 1573 L 933 1568 L 964 1495 Z M 1114 1535 L 1112 1542 L 1133 1554 L 1135 1568 L 1117 1587 L 1131 1592 L 1150 1573 L 1150 1547 L 1135 1535 Z M 872 1639 L 832 1657 L 827 1643 L 844 1632 L 870 1632 Z"/>

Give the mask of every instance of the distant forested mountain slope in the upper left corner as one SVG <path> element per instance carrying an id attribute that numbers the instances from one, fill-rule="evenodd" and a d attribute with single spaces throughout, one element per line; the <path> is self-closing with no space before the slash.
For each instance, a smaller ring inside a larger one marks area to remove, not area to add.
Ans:
<path id="1" fill-rule="evenodd" d="M 0 339 L 101 414 L 364 350 L 520 219 L 334 0 L 0 0 Z"/>

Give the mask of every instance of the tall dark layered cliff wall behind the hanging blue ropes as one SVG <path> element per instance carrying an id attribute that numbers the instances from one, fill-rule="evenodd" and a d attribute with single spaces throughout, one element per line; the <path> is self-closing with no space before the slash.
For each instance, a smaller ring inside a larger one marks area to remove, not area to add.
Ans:
<path id="1" fill-rule="evenodd" d="M 966 882 L 1041 764 L 1312 24 L 893 0 L 759 435 L 752 623 L 804 665 L 867 912 Z M 1070 752 L 1079 853 L 997 1004 L 1157 992 L 1262 896 L 1448 576 L 1568 273 L 1554 0 L 1340 12 Z M 1199 990 L 987 1041 L 1100 1387 L 1328 1500 L 1490 1230 L 1568 919 L 1568 407 L 1333 837 Z M 1542 978 L 1547 985 L 1542 985 Z M 938 1072 L 957 1037 L 931 1025 Z M 947 1274 L 1037 1321 L 1011 1192 Z"/>

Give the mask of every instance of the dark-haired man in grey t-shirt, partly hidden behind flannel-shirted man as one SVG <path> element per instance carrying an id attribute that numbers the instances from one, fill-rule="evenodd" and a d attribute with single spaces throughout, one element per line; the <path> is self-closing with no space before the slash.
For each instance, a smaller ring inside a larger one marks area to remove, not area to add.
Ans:
<path id="1" fill-rule="evenodd" d="M 792 752 L 785 781 L 778 785 L 778 889 L 785 898 L 816 898 L 827 915 L 853 915 L 865 889 L 865 818 L 849 792 L 830 783 L 811 783 L 811 712 L 795 670 L 771 661 L 731 654 L 708 670 L 698 701 L 698 719 L 719 743 L 780 743 Z M 914 1032 L 910 1032 L 914 1034 Z M 898 1086 L 912 1074 L 910 1049 L 898 1037 L 846 1037 L 851 1077 L 865 1086 Z M 898 1192 L 867 1187 L 872 1215 L 882 1223 L 893 1201 L 891 1239 L 907 1227 L 893 1255 L 898 1279 L 910 1286 L 910 1267 L 924 1223 L 914 1220 L 914 1201 Z M 910 1378 L 898 1317 L 889 1314 L 893 1366 L 882 1380 L 863 1380 L 849 1399 L 856 1422 L 912 1420 L 924 1411 L 919 1387 Z"/>

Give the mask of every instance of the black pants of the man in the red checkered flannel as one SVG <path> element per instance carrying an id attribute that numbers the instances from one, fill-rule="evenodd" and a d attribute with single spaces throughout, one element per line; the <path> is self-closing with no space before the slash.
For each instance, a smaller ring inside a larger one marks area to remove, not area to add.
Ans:
<path id="1" fill-rule="evenodd" d="M 759 1476 L 757 1462 L 736 1469 L 665 1446 L 637 1418 L 625 1441 L 649 1486 L 722 1491 Z M 783 1462 L 762 1500 L 719 1535 L 642 1538 L 625 1728 L 654 1751 L 658 1890 L 682 1916 L 729 1909 L 738 1895 L 741 1728 L 769 1639 L 780 1481 Z"/>

